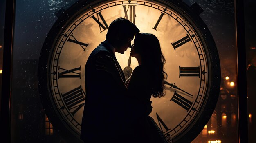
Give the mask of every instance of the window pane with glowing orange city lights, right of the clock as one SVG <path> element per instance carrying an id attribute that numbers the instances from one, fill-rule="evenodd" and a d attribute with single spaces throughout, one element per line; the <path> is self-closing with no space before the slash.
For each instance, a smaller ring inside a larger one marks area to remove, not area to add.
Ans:
<path id="1" fill-rule="evenodd" d="M 192 143 L 238 143 L 238 107 L 236 86 L 236 29 L 234 0 L 184 0 L 197 2 L 204 12 L 200 17 L 207 24 L 220 56 L 221 88 L 218 103 L 204 130 Z"/>

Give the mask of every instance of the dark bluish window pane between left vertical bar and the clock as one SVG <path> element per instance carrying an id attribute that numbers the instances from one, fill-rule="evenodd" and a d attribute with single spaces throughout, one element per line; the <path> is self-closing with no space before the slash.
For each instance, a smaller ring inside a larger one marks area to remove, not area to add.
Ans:
<path id="1" fill-rule="evenodd" d="M 0 45 L 3 44 L 4 1 L 0 0 Z M 12 143 L 66 142 L 58 132 L 53 131 L 50 122 L 45 122 L 47 117 L 37 88 L 37 65 L 45 37 L 57 20 L 56 15 L 75 2 L 76 0 L 16 0 L 11 95 Z"/>

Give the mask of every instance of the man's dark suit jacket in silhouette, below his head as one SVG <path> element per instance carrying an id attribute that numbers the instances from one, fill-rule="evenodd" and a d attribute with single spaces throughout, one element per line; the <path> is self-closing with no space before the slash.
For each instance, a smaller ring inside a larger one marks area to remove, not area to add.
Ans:
<path id="1" fill-rule="evenodd" d="M 132 139 L 134 130 L 130 120 L 132 103 L 125 91 L 118 88 L 110 73 L 96 69 L 97 57 L 104 58 L 105 55 L 115 59 L 121 77 L 125 80 L 111 48 L 102 42 L 92 51 L 85 65 L 86 95 L 81 139 L 85 143 L 130 142 L 128 140 Z"/>

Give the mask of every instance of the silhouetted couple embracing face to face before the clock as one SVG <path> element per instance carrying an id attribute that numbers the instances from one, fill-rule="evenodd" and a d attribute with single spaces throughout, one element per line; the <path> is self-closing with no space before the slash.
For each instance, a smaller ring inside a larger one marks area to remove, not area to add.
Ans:
<path id="1" fill-rule="evenodd" d="M 128 47 L 139 66 L 126 80 L 115 52 L 123 54 Z M 155 35 L 139 33 L 124 18 L 114 20 L 106 40 L 92 51 L 85 65 L 84 143 L 171 143 L 149 116 L 150 98 L 164 96 L 164 63 Z"/>

